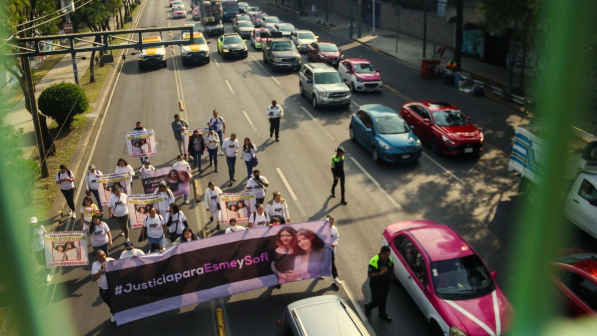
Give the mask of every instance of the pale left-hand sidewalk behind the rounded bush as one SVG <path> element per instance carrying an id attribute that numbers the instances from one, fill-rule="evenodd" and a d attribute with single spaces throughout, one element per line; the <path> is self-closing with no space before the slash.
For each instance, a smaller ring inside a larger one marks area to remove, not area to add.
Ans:
<path id="1" fill-rule="evenodd" d="M 85 60 L 81 57 L 85 56 Z M 76 54 L 76 64 L 79 72 L 79 79 L 89 68 L 89 62 L 91 57 L 91 51 L 87 53 Z M 47 88 L 51 84 L 57 84 L 61 82 L 75 83 L 75 75 L 73 74 L 72 57 L 70 54 L 64 55 L 63 59 L 60 60 L 48 71 L 48 74 L 42 78 L 37 85 L 35 85 L 35 99 L 39 98 L 41 91 Z M 35 130 L 33 129 L 33 120 L 31 114 L 25 108 L 25 99 L 21 99 L 17 105 L 11 109 L 10 112 L 4 117 L 4 121 L 7 124 L 14 126 L 16 129 L 23 129 L 23 136 L 21 137 L 19 147 L 23 149 L 25 157 L 33 151 L 37 151 L 37 145 L 35 140 Z M 51 118 L 48 118 L 48 125 L 52 122 Z"/>

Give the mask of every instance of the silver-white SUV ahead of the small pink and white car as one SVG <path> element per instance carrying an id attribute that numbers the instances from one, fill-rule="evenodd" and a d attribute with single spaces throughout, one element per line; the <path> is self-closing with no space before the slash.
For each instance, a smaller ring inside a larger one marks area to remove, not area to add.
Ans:
<path id="1" fill-rule="evenodd" d="M 321 105 L 350 105 L 350 88 L 331 66 L 307 63 L 300 69 L 299 76 L 300 94 L 309 98 L 314 108 Z"/>

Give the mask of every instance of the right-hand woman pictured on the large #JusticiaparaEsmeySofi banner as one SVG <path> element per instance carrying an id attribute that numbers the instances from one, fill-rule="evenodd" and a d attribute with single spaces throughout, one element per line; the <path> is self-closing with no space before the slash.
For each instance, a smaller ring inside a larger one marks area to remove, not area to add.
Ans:
<path id="1" fill-rule="evenodd" d="M 311 279 L 329 276 L 324 265 L 331 265 L 332 251 L 317 234 L 310 230 L 298 230 L 296 235 L 298 255 L 294 260 L 294 279 Z M 296 274 L 295 274 L 296 273 Z"/>

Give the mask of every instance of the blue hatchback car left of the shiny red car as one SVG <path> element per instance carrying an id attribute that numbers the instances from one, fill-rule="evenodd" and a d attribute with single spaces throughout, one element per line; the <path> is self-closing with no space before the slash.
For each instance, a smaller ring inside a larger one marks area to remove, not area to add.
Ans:
<path id="1" fill-rule="evenodd" d="M 373 161 L 408 162 L 421 157 L 421 140 L 401 115 L 380 104 L 362 105 L 350 120 L 350 140 L 371 151 Z"/>

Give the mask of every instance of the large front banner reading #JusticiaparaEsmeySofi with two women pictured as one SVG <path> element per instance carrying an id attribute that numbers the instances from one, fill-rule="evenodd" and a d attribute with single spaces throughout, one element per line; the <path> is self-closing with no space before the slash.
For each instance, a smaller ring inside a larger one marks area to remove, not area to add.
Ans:
<path id="1" fill-rule="evenodd" d="M 302 243 L 297 246 L 295 241 Z M 330 243 L 330 225 L 316 221 L 237 231 L 106 262 L 116 323 L 279 283 L 330 276 Z"/>

